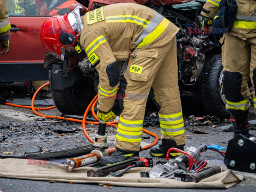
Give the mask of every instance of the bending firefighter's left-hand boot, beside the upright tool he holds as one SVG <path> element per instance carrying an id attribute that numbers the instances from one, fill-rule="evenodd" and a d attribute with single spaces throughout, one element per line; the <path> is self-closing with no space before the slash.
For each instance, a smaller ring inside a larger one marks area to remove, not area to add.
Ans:
<path id="1" fill-rule="evenodd" d="M 101 157 L 99 164 L 105 166 L 105 165 L 125 161 L 134 156 L 139 157 L 139 151 L 128 152 L 128 151 L 121 151 L 121 150 L 117 149 L 112 155 L 106 156 L 106 157 Z"/>

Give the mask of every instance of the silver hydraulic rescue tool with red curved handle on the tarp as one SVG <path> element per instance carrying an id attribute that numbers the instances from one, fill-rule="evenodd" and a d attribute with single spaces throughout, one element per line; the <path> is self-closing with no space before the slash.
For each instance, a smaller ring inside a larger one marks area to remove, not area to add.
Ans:
<path id="1" fill-rule="evenodd" d="M 165 160 L 166 162 L 159 162 L 156 166 L 154 166 L 151 171 L 149 171 L 148 176 L 150 178 L 171 178 L 174 179 L 174 173 L 183 173 L 186 174 L 188 171 L 191 170 L 193 164 L 198 162 L 199 158 L 201 157 L 201 153 L 207 150 L 207 146 L 202 144 L 199 148 L 196 147 L 188 147 L 185 151 L 177 149 L 177 148 L 170 148 L 167 151 Z M 175 157 L 174 159 L 169 159 L 170 152 L 177 151 L 182 153 L 181 155 Z M 205 166 L 207 163 L 204 162 L 201 167 Z M 188 171 L 187 171 L 188 167 Z M 147 174 L 141 174 L 143 175 Z"/>

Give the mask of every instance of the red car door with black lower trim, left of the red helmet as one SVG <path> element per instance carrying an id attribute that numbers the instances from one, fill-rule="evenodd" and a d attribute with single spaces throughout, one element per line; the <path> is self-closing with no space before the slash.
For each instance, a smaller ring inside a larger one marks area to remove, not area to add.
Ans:
<path id="1" fill-rule="evenodd" d="M 41 43 L 40 30 L 50 16 L 9 12 L 9 17 L 10 51 L 0 55 L 0 82 L 49 79 L 43 67 L 46 49 Z"/>

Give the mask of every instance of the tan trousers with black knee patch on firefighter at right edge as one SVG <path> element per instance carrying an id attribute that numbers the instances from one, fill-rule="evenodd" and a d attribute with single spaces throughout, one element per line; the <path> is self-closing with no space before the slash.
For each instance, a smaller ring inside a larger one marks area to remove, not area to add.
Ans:
<path id="1" fill-rule="evenodd" d="M 222 82 L 226 108 L 246 111 L 250 107 L 249 77 L 252 85 L 256 84 L 256 37 L 242 39 L 225 34 L 224 38 Z M 255 93 L 253 98 L 255 109 Z"/>

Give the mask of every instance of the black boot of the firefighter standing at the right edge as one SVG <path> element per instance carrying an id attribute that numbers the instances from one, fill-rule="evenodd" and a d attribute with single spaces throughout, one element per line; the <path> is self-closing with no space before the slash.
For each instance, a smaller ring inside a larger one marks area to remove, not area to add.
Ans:
<path id="1" fill-rule="evenodd" d="M 234 110 L 231 111 L 230 121 L 233 122 L 234 127 L 234 137 L 238 134 L 247 135 L 249 134 L 249 123 L 248 123 L 248 113 L 247 111 Z"/>

